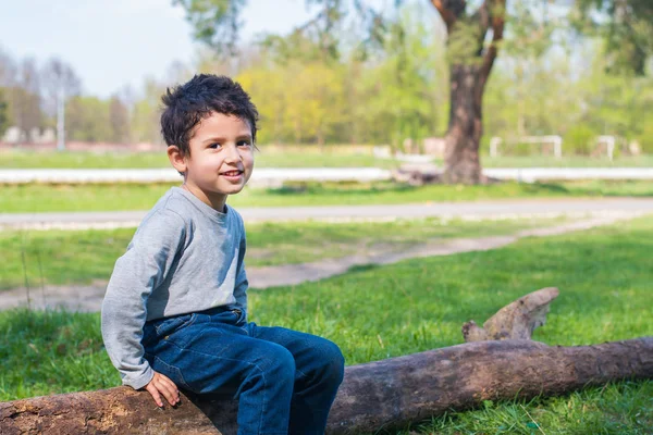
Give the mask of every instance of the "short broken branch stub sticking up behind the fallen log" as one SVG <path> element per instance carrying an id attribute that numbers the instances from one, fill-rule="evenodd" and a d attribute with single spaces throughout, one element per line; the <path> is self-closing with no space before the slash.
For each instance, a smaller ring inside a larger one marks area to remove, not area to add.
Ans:
<path id="1" fill-rule="evenodd" d="M 479 327 L 473 320 L 463 325 L 466 343 L 531 339 L 533 331 L 546 323 L 550 303 L 557 298 L 556 287 L 546 287 L 530 293 L 498 310 Z"/>

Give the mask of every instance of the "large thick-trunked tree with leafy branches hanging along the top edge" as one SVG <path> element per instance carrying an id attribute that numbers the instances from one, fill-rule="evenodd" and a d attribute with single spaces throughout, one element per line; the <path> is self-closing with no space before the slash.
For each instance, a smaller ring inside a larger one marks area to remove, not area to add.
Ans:
<path id="1" fill-rule="evenodd" d="M 238 14 L 246 0 L 176 0 L 196 28 L 199 40 L 213 49 L 233 50 L 238 30 Z M 299 26 L 288 37 L 268 38 L 278 46 L 293 47 L 299 34 L 308 36 L 320 47 L 324 58 L 337 59 L 338 45 L 334 29 L 338 28 L 347 15 L 347 5 L 357 12 L 359 28 L 365 28 L 359 41 L 367 51 L 384 47 L 386 35 L 393 32 L 384 15 L 369 7 L 369 2 L 355 0 L 306 0 L 309 7 L 317 7 L 317 14 L 308 23 Z M 403 3 L 395 0 L 394 4 Z M 449 67 L 449 114 L 446 133 L 446 157 L 444 181 L 448 183 L 483 182 L 479 159 L 480 140 L 483 134 L 483 96 L 494 66 L 497 53 L 504 50 L 504 28 L 510 21 L 513 54 L 522 55 L 517 83 L 522 84 L 520 95 L 526 90 L 528 73 L 525 65 L 541 55 L 547 47 L 552 29 L 546 25 L 549 3 L 553 1 L 529 0 L 510 2 L 508 0 L 430 0 L 429 3 L 442 17 L 447 29 L 447 57 Z M 608 51 L 614 61 L 612 70 L 623 71 L 628 65 L 631 71 L 642 74 L 645 60 L 653 52 L 653 2 L 650 0 L 579 0 L 569 7 L 568 1 L 558 1 L 563 8 L 577 12 L 577 22 L 592 22 L 593 27 L 582 27 L 582 35 L 591 35 L 599 29 L 606 37 Z M 476 8 L 475 8 L 476 5 Z M 532 14 L 531 9 L 542 10 Z M 510 8 L 508 10 L 508 8 Z M 523 21 L 527 17 L 529 20 Z M 534 20 L 533 20 L 534 17 Z M 543 24 L 544 23 L 544 24 Z M 580 28 L 580 26 L 579 26 Z M 356 34 L 357 36 L 359 33 Z M 346 39 L 343 37 L 342 39 Z M 392 47 L 392 46 L 391 46 Z M 532 80 L 531 80 L 532 82 Z M 525 100 L 526 101 L 526 100 Z M 518 130 L 526 133 L 526 112 L 522 101 L 518 109 Z"/>

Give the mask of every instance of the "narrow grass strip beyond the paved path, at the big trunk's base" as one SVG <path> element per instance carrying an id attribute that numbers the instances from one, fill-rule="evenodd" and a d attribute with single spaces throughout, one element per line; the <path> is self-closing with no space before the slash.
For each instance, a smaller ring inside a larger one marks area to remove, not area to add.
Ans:
<path id="1" fill-rule="evenodd" d="M 3 185 L 0 210 L 4 213 L 49 211 L 147 210 L 172 185 Z M 301 184 L 276 189 L 246 188 L 229 199 L 238 207 L 398 204 L 490 199 L 653 196 L 653 183 L 569 182 L 501 183 L 488 186 L 411 187 L 393 183 Z"/>

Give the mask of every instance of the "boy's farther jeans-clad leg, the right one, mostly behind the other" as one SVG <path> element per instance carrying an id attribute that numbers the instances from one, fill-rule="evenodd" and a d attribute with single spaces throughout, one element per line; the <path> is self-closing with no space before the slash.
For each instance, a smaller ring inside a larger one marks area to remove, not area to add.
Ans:
<path id="1" fill-rule="evenodd" d="M 345 360 L 332 341 L 284 327 L 248 324 L 249 335 L 276 343 L 295 359 L 289 434 L 323 434 L 329 410 L 343 381 Z"/>

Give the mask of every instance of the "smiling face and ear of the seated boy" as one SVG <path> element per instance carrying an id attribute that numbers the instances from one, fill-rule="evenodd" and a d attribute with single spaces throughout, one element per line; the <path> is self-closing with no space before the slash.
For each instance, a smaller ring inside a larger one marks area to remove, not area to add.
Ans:
<path id="1" fill-rule="evenodd" d="M 184 187 L 218 211 L 226 197 L 243 190 L 254 169 L 249 123 L 236 116 L 211 113 L 195 126 L 189 156 L 168 149 L 172 165 L 184 173 Z M 176 149 L 176 151 L 175 151 Z"/>

